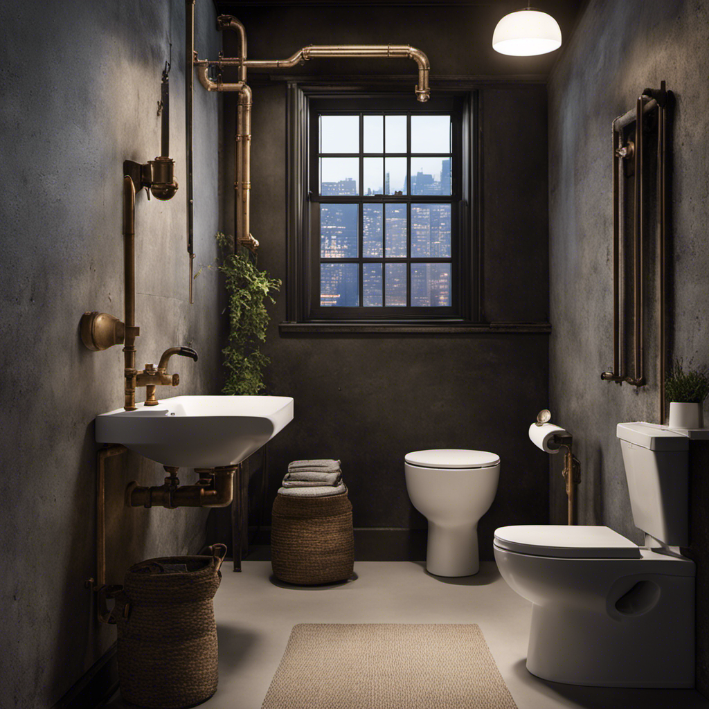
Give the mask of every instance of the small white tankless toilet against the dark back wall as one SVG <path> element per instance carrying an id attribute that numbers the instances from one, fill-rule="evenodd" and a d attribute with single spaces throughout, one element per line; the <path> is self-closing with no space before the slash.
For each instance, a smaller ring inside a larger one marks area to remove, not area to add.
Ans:
<path id="1" fill-rule="evenodd" d="M 495 499 L 500 457 L 481 450 L 418 450 L 405 457 L 406 489 L 428 519 L 426 570 L 470 576 L 480 568 L 478 522 Z"/>

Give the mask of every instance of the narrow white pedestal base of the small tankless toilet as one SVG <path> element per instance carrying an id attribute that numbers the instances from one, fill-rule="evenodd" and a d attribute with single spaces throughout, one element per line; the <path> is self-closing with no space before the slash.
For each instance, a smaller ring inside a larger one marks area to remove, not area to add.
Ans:
<path id="1" fill-rule="evenodd" d="M 434 576 L 472 576 L 480 569 L 478 525 L 428 523 L 426 571 Z"/>

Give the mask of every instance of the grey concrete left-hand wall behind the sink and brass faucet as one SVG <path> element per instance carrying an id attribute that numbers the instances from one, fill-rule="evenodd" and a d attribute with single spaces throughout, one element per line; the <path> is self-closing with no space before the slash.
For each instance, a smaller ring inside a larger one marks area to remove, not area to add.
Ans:
<path id="1" fill-rule="evenodd" d="M 160 152 L 160 75 L 172 41 L 172 157 L 180 183 L 169 202 L 136 200 L 138 366 L 171 345 L 179 389 L 219 389 L 216 277 L 188 300 L 184 143 L 184 3 L 0 8 L 0 706 L 48 707 L 115 641 L 96 623 L 93 419 L 123 403 L 120 347 L 89 352 L 79 317 L 123 316 L 123 160 Z M 211 3 L 198 8 L 198 47 L 216 55 Z M 199 262 L 215 255 L 219 101 L 198 87 L 195 235 Z M 159 390 L 158 396 L 160 396 Z M 145 391 L 140 391 L 140 397 Z M 127 457 L 107 466 L 108 582 L 158 554 L 195 553 L 204 513 L 125 510 L 130 479 L 160 484 L 162 468 Z M 191 476 L 189 481 L 191 481 Z"/>

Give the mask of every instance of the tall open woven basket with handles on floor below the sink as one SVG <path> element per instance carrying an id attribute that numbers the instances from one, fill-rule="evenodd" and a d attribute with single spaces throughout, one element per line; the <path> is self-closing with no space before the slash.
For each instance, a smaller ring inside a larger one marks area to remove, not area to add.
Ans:
<path id="1" fill-rule="evenodd" d="M 213 598 L 224 545 L 213 556 L 162 557 L 125 573 L 113 614 L 121 696 L 141 707 L 182 709 L 215 693 L 217 627 Z"/>

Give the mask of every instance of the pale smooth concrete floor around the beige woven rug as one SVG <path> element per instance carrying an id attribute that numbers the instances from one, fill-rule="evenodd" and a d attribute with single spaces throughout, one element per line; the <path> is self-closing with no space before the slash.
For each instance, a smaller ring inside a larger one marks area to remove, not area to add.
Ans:
<path id="1" fill-rule="evenodd" d="M 259 708 L 296 623 L 477 623 L 519 709 L 709 709 L 693 690 L 576 687 L 529 674 L 530 603 L 494 562 L 463 579 L 430 576 L 422 562 L 357 562 L 354 569 L 355 581 L 301 588 L 274 583 L 270 562 L 245 561 L 240 574 L 225 562 L 214 599 L 219 688 L 200 706 Z M 129 706 L 120 698 L 108 704 Z"/>

